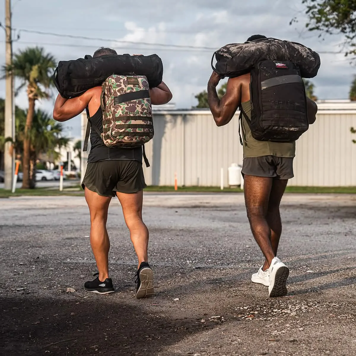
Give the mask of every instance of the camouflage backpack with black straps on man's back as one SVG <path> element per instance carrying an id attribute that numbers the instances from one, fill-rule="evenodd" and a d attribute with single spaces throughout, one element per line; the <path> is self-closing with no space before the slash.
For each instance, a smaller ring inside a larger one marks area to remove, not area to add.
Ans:
<path id="1" fill-rule="evenodd" d="M 150 92 L 147 78 L 142 75 L 110 75 L 102 84 L 101 109 L 103 110 L 103 132 L 93 126 L 108 147 L 134 148 L 142 146 L 153 138 L 153 120 Z M 90 133 L 88 127 L 83 151 L 87 150 Z"/>

